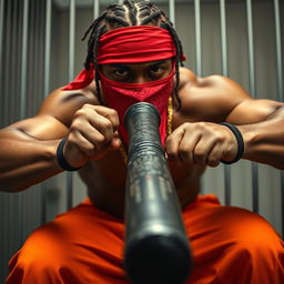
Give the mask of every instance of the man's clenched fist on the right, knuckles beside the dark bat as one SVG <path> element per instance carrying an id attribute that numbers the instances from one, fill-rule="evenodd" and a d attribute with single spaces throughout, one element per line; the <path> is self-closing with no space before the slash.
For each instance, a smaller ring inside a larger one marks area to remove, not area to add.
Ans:
<path id="1" fill-rule="evenodd" d="M 216 123 L 183 123 L 165 141 L 170 160 L 179 163 L 217 166 L 220 161 L 232 161 L 237 141 L 232 131 Z"/>

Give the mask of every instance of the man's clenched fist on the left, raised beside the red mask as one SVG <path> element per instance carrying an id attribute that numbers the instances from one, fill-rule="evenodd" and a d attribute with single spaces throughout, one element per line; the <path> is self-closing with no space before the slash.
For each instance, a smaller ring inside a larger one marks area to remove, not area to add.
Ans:
<path id="1" fill-rule="evenodd" d="M 97 160 L 110 150 L 119 150 L 119 116 L 115 110 L 84 104 L 74 113 L 63 149 L 68 163 L 74 168 Z"/>

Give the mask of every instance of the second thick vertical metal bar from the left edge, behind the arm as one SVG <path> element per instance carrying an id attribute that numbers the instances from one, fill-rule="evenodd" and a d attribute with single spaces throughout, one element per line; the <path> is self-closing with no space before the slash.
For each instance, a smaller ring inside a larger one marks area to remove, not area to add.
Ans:
<path id="1" fill-rule="evenodd" d="M 51 17 L 52 0 L 47 0 L 45 6 L 45 42 L 44 42 L 44 79 L 43 97 L 47 98 L 50 91 L 50 54 L 51 54 Z M 41 224 L 47 223 L 47 182 L 41 183 Z"/>

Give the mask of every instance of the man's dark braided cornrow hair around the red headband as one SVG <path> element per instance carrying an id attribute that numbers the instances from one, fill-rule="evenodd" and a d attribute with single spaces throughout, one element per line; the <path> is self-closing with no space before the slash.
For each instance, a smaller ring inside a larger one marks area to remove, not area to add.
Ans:
<path id="1" fill-rule="evenodd" d="M 181 55 L 183 54 L 183 49 L 181 41 L 173 28 L 172 22 L 165 16 L 165 13 L 159 9 L 155 4 L 150 1 L 144 1 L 135 3 L 133 0 L 125 0 L 123 4 L 110 4 L 106 7 L 105 11 L 98 17 L 89 29 L 85 31 L 82 40 L 89 36 L 88 40 L 88 54 L 84 62 L 85 69 L 90 69 L 93 65 L 95 70 L 95 87 L 97 95 L 100 102 L 101 90 L 100 90 L 100 77 L 99 77 L 99 64 L 98 64 L 98 45 L 100 37 L 109 30 L 130 27 L 130 26 L 145 26 L 151 24 L 160 27 L 170 32 L 173 38 L 176 57 L 175 57 L 175 98 L 178 100 L 179 108 L 181 106 L 181 99 L 179 97 L 179 84 L 180 84 L 180 64 L 183 65 L 181 61 Z"/>

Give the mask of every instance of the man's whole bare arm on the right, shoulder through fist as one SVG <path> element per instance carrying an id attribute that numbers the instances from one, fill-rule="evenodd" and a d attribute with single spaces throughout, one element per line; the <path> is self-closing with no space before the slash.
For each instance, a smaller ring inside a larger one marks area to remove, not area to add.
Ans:
<path id="1" fill-rule="evenodd" d="M 180 90 L 181 121 L 170 138 L 169 151 L 175 160 L 215 166 L 236 153 L 232 132 L 219 122 L 237 125 L 243 134 L 243 159 L 284 169 L 284 104 L 255 100 L 236 82 L 213 75 L 194 78 L 183 72 Z M 186 82 L 187 80 L 187 82 Z M 174 142 L 174 141 L 179 142 Z"/>

